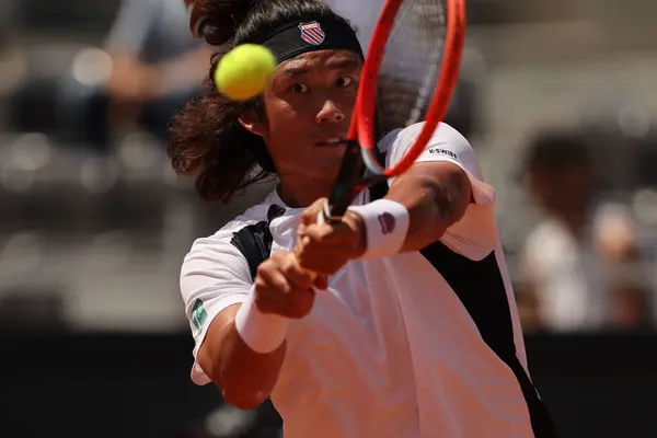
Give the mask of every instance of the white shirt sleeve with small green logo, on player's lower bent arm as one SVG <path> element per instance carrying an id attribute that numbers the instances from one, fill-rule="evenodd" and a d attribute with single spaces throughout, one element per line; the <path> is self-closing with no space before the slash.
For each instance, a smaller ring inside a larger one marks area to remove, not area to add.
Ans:
<path id="1" fill-rule="evenodd" d="M 194 242 L 181 269 L 181 293 L 195 342 L 194 383 L 210 381 L 196 360 L 210 323 L 226 308 L 244 302 L 252 285 L 249 264 L 230 241 L 211 237 Z"/>

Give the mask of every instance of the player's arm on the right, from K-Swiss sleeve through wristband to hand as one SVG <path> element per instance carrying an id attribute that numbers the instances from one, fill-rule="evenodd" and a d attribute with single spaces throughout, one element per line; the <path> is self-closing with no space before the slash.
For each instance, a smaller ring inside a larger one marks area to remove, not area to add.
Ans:
<path id="1" fill-rule="evenodd" d="M 420 128 L 382 140 L 387 168 L 404 155 Z M 495 191 L 483 182 L 468 140 L 445 124 L 413 166 L 391 182 L 383 199 L 350 207 L 337 226 L 315 224 L 324 203 L 318 200 L 303 214 L 296 249 L 301 265 L 321 274 L 333 274 L 349 260 L 419 251 L 438 240 L 474 261 L 497 244 Z"/>

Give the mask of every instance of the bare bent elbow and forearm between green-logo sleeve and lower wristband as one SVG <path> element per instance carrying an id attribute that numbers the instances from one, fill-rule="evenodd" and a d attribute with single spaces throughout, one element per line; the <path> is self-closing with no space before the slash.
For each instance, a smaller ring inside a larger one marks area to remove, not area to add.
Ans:
<path id="1" fill-rule="evenodd" d="M 235 327 L 239 308 L 240 304 L 235 304 L 226 309 L 212 322 L 198 360 L 226 401 L 253 410 L 269 396 L 276 384 L 286 344 L 266 354 L 251 349 Z"/>

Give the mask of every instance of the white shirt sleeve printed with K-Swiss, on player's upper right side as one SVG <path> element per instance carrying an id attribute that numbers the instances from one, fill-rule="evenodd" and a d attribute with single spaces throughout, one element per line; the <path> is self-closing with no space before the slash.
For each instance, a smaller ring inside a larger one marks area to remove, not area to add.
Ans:
<path id="1" fill-rule="evenodd" d="M 424 124 L 412 125 L 387 135 L 379 149 L 385 153 L 388 168 L 397 163 L 419 136 Z M 480 261 L 495 251 L 495 191 L 484 182 L 479 159 L 470 142 L 454 128 L 441 123 L 416 162 L 446 161 L 461 168 L 472 186 L 474 203 L 468 206 L 463 218 L 452 224 L 440 239 L 457 253 Z M 389 181 L 392 184 L 393 178 Z"/>

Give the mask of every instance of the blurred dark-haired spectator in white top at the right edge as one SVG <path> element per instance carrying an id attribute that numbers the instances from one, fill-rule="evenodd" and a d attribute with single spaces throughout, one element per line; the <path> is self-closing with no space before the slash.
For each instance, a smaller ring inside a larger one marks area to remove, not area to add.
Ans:
<path id="1" fill-rule="evenodd" d="M 519 306 L 526 327 L 644 324 L 644 289 L 624 279 L 633 273 L 626 265 L 637 256 L 634 224 L 622 206 L 597 193 L 584 141 L 562 132 L 539 136 L 527 152 L 522 176 L 544 212 L 521 254 Z"/>

